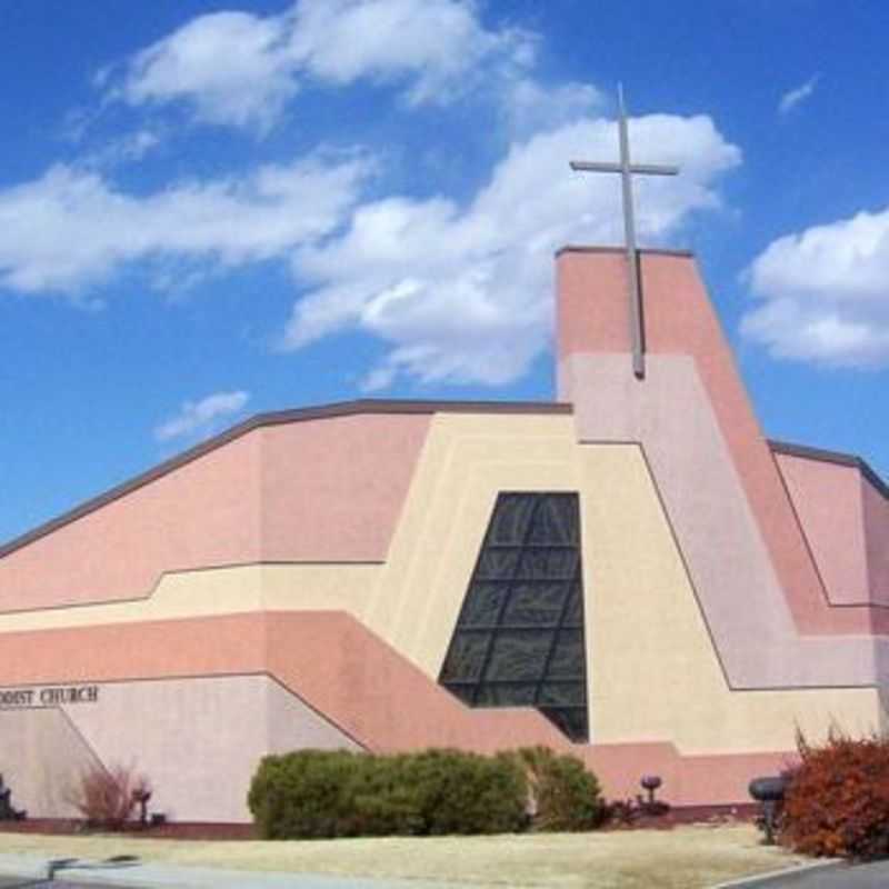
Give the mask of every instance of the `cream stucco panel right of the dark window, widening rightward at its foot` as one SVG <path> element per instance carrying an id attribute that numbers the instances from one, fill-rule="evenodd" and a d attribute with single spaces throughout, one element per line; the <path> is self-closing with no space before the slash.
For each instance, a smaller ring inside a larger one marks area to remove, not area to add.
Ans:
<path id="1" fill-rule="evenodd" d="M 793 749 L 797 728 L 811 739 L 831 722 L 853 733 L 879 728 L 873 689 L 730 690 L 641 449 L 585 450 L 598 742 L 671 739 L 686 755 L 755 752 Z"/>

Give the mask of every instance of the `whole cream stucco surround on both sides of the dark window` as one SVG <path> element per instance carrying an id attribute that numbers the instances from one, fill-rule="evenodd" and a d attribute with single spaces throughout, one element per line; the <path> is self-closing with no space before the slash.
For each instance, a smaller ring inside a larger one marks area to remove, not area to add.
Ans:
<path id="1" fill-rule="evenodd" d="M 440 420 L 440 422 L 439 422 Z M 366 620 L 436 678 L 501 490 L 580 490 L 597 742 L 792 749 L 797 728 L 878 726 L 873 689 L 732 691 L 638 446 L 578 446 L 566 419 L 437 418 Z"/>

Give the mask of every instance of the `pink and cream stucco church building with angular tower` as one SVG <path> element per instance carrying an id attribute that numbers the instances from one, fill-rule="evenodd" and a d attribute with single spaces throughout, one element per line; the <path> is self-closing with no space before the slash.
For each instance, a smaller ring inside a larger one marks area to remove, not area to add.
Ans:
<path id="1" fill-rule="evenodd" d="M 625 251 L 558 253 L 556 401 L 260 414 L 0 548 L 16 805 L 123 763 L 238 822 L 268 752 L 538 743 L 733 803 L 883 729 L 889 489 L 765 438 L 693 257 L 637 261 L 640 342 Z"/>

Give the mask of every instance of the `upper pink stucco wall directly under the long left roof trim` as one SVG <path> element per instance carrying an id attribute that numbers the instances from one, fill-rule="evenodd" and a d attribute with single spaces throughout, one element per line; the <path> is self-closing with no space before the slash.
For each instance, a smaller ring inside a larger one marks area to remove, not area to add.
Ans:
<path id="1" fill-rule="evenodd" d="M 164 572 L 382 560 L 429 414 L 253 429 L 0 558 L 0 612 L 148 596 Z"/>

